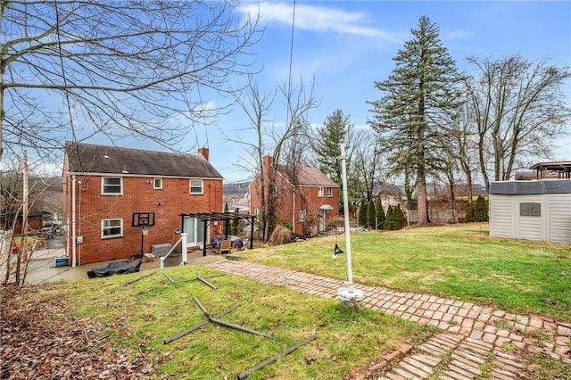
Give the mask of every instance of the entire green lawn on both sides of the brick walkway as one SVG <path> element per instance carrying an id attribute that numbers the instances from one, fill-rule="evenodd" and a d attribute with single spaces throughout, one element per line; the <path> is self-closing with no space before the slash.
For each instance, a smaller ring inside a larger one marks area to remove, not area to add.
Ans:
<path id="1" fill-rule="evenodd" d="M 353 278 L 356 283 L 441 294 L 571 321 L 571 245 L 491 238 L 487 228 L 471 224 L 352 233 Z M 244 260 L 346 279 L 346 256 L 331 258 L 335 242 L 345 250 L 344 235 L 338 235 L 243 255 Z M 177 280 L 194 278 L 196 273 L 220 274 L 192 266 L 167 271 Z M 126 285 L 143 275 L 42 285 L 40 292 L 29 292 L 22 300 L 65 300 L 65 310 L 58 313 L 74 321 L 94 321 L 102 331 L 91 339 L 117 351 L 128 348 L 157 363 L 150 376 L 157 379 L 236 378 L 312 335 L 317 340 L 248 378 L 343 378 L 401 343 L 421 343 L 434 334 L 433 328 L 381 312 L 341 310 L 338 301 L 243 277 L 212 277 L 211 283 L 218 286 L 214 290 L 195 280 L 168 285 L 158 271 Z M 212 314 L 240 305 L 221 319 L 277 339 L 209 323 L 163 344 L 206 320 L 194 297 Z M 555 361 L 542 368 L 555 370 L 559 365 Z"/>

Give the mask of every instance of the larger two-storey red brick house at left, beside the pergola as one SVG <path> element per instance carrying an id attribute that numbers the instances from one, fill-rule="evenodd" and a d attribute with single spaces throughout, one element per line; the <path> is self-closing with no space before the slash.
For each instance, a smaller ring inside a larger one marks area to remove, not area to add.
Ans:
<path id="1" fill-rule="evenodd" d="M 221 212 L 222 176 L 197 155 L 66 142 L 63 162 L 64 244 L 70 265 L 128 259 L 153 244 L 175 244 L 179 230 L 202 245 L 203 223 L 183 213 Z M 134 213 L 153 214 L 143 235 Z M 210 234 L 211 231 L 208 231 Z M 210 238 L 210 237 L 209 237 Z"/>

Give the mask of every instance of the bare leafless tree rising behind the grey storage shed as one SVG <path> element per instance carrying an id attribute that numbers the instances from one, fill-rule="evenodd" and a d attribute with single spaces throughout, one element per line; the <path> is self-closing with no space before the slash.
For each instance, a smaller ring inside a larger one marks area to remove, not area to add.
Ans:
<path id="1" fill-rule="evenodd" d="M 480 169 L 489 189 L 490 177 L 509 179 L 520 161 L 550 157 L 554 138 L 564 133 L 571 117 L 561 91 L 571 72 L 548 59 L 530 62 L 521 55 L 470 57 L 468 62 L 479 71 L 478 78 L 468 80 L 468 96 Z"/>

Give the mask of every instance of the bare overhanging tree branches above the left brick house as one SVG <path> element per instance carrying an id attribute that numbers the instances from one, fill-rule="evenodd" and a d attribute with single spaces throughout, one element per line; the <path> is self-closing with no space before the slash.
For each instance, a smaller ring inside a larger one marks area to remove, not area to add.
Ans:
<path id="1" fill-rule="evenodd" d="M 95 134 L 172 148 L 222 112 L 211 95 L 233 95 L 230 80 L 251 69 L 257 19 L 239 20 L 234 4 L 3 1 L 0 158 L 50 156 Z"/>

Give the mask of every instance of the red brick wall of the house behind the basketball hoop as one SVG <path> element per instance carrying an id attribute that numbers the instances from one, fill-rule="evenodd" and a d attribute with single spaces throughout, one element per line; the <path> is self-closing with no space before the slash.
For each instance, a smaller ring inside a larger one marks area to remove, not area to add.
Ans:
<path id="1" fill-rule="evenodd" d="M 70 176 L 63 181 L 64 214 L 70 221 L 71 181 Z M 143 236 L 143 251 L 151 252 L 153 244 L 178 241 L 180 235 L 174 231 L 182 227 L 181 213 L 222 211 L 221 179 L 205 179 L 203 194 L 198 195 L 189 194 L 187 178 L 162 178 L 162 189 L 153 189 L 153 178 L 123 177 L 122 186 L 122 195 L 102 195 L 101 178 L 76 177 L 76 235 L 83 236 L 83 243 L 77 245 L 78 264 L 138 255 L 142 231 L 131 227 L 133 212 L 154 212 L 155 225 Z M 123 235 L 102 238 L 102 219 L 119 218 L 123 219 Z"/>

